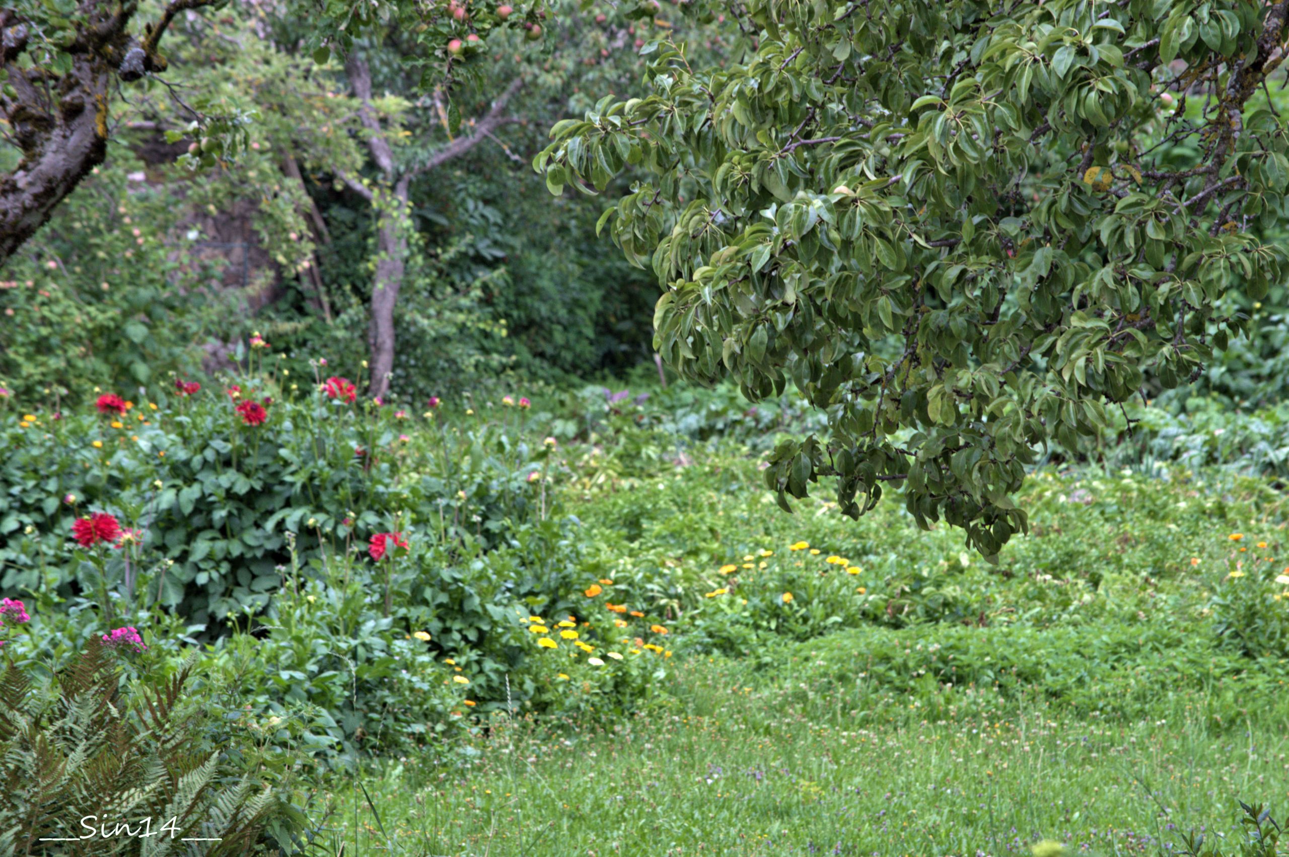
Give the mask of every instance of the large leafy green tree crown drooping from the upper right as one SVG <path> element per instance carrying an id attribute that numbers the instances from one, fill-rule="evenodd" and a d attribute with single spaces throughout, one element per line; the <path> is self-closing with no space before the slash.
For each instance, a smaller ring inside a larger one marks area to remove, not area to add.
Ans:
<path id="1" fill-rule="evenodd" d="M 745 62 L 646 45 L 642 97 L 557 124 L 535 168 L 559 192 L 642 166 L 601 224 L 652 260 L 664 358 L 826 410 L 771 456 L 780 505 L 828 477 L 858 517 L 902 487 L 994 557 L 1035 447 L 1186 383 L 1248 327 L 1214 299 L 1279 277 L 1249 227 L 1284 213 L 1286 10 L 735 0 Z"/>

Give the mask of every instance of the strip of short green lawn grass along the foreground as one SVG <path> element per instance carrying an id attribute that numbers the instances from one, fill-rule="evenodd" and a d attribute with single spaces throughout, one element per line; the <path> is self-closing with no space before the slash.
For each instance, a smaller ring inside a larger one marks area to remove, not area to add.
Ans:
<path id="1" fill-rule="evenodd" d="M 793 660 L 771 677 L 696 660 L 670 691 L 612 727 L 499 724 L 464 771 L 392 766 L 365 784 L 391 836 L 360 793 L 358 853 L 1159 853 L 1185 829 L 1234 833 L 1236 798 L 1289 798 L 1289 720 L 1214 728 L 1201 700 L 1102 720 L 982 692 L 929 719 Z"/>

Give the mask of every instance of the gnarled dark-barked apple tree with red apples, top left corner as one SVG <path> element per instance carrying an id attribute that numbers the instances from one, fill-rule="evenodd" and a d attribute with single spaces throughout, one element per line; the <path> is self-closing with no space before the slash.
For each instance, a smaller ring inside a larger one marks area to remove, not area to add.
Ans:
<path id="1" fill-rule="evenodd" d="M 0 264 L 50 213 L 103 162 L 113 133 L 112 107 L 121 84 L 161 82 L 191 115 L 197 143 L 193 164 L 232 161 L 247 144 L 251 113 L 206 111 L 201 90 L 183 94 L 184 81 L 160 75 L 169 68 L 161 39 L 177 17 L 228 0 L 169 0 L 146 14 L 139 0 L 15 0 L 0 9 Z M 503 3 L 504 5 L 504 3 Z M 410 34 L 418 46 L 412 63 L 425 89 L 451 62 L 447 45 L 461 30 L 455 3 L 423 5 L 286 3 L 282 13 L 307 22 L 303 44 L 326 63 L 331 48 L 345 53 L 354 39 L 379 23 Z M 492 0 L 478 0 L 470 32 L 478 45 L 505 26 Z M 509 9 L 509 6 L 507 6 Z M 528 13 L 531 14 L 531 13 Z M 143 22 L 141 26 L 141 21 Z M 516 14 L 512 27 L 525 21 Z M 540 31 L 538 31 L 540 35 Z M 209 36 L 196 31 L 199 41 Z M 191 99 L 191 101 L 186 101 Z M 177 131 L 178 133 L 178 131 Z"/>

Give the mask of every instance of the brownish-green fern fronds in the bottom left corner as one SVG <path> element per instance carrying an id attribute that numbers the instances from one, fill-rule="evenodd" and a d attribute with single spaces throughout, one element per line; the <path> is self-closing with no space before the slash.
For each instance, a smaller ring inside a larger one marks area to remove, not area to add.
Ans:
<path id="1" fill-rule="evenodd" d="M 240 753 L 209 745 L 205 710 L 184 697 L 191 671 L 189 660 L 126 698 L 93 637 L 49 682 L 9 664 L 0 677 L 0 857 L 231 857 L 276 854 L 276 843 L 299 840 L 305 820 L 281 790 Z M 134 834 L 151 818 L 152 835 L 88 836 L 88 816 Z"/>

